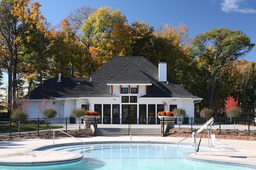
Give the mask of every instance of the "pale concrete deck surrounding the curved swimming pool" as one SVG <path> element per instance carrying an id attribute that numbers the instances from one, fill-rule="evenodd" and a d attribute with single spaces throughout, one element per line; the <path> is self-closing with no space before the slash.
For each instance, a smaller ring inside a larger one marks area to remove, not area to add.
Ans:
<path id="1" fill-rule="evenodd" d="M 84 142 L 130 142 L 130 136 L 97 136 L 79 138 Z M 170 142 L 177 144 L 184 138 L 180 137 L 160 137 L 160 136 L 132 136 L 132 141 L 136 142 Z M 199 139 L 198 139 L 199 141 Z M 55 144 L 67 144 L 81 142 L 75 138 L 55 138 Z M 202 138 L 200 145 L 211 146 L 208 138 Z M 26 163 L 26 162 L 48 162 L 76 159 L 79 154 L 67 152 L 33 151 L 42 146 L 54 145 L 53 139 L 24 139 L 8 140 L 0 142 L 0 163 Z M 180 142 L 180 144 L 192 144 L 192 138 Z M 226 163 L 236 163 L 256 167 L 256 142 L 247 140 L 218 140 L 218 144 L 228 144 L 227 151 L 221 152 L 197 152 L 184 154 L 187 158 L 205 161 L 217 161 Z"/>

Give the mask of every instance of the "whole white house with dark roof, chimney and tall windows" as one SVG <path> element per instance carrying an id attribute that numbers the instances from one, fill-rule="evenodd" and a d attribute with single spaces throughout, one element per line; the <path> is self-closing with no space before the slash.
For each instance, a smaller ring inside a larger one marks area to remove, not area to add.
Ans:
<path id="1" fill-rule="evenodd" d="M 70 117 L 73 108 L 86 107 L 101 113 L 102 123 L 106 118 L 111 124 L 127 123 L 129 118 L 142 123 L 149 113 L 157 118 L 164 102 L 165 110 L 182 107 L 194 117 L 194 103 L 202 98 L 167 77 L 166 69 L 164 60 L 157 68 L 144 57 L 114 57 L 88 78 L 50 78 L 28 95 L 30 118 L 41 117 L 37 106 L 43 99 L 51 99 L 56 117 Z"/>

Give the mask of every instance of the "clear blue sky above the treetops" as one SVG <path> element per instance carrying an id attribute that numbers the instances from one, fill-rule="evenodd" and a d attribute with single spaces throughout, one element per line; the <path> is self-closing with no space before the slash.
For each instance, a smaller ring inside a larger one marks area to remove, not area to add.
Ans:
<path id="1" fill-rule="evenodd" d="M 212 28 L 239 29 L 256 43 L 256 0 L 34 0 L 39 2 L 41 14 L 52 26 L 59 24 L 71 11 L 86 5 L 91 8 L 112 6 L 126 16 L 128 24 L 144 21 L 155 30 L 160 24 L 186 24 L 189 36 Z M 256 62 L 256 47 L 244 56 Z"/>

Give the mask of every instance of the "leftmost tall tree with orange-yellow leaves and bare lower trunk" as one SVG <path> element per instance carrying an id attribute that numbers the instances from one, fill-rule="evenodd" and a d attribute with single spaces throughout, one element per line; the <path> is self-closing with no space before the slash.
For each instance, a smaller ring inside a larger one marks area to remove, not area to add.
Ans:
<path id="1" fill-rule="evenodd" d="M 0 2 L 1 64 L 8 73 L 8 113 L 16 99 L 18 47 L 34 18 L 38 18 L 40 4 L 30 0 L 2 0 Z"/>

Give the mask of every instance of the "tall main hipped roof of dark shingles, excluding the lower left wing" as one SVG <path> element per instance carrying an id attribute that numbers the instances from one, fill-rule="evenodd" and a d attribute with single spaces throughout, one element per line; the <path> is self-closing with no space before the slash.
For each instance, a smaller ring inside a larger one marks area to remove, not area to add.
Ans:
<path id="1" fill-rule="evenodd" d="M 60 98 L 116 97 L 107 84 L 152 84 L 142 97 L 201 99 L 168 78 L 158 81 L 158 68 L 144 57 L 114 57 L 68 94 Z"/>

